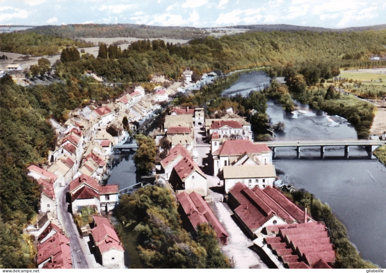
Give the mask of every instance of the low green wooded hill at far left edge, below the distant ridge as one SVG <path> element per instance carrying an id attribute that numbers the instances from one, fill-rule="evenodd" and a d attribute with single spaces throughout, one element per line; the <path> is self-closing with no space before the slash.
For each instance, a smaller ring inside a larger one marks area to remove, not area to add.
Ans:
<path id="1" fill-rule="evenodd" d="M 35 32 L 0 33 L 0 48 L 4 52 L 29 54 L 32 56 L 54 55 L 69 46 L 90 47 L 92 44 L 40 35 Z"/>

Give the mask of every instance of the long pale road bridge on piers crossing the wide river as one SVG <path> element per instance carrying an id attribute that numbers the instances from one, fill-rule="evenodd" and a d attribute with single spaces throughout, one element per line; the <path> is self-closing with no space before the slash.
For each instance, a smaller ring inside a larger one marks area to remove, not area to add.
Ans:
<path id="1" fill-rule="evenodd" d="M 371 152 L 376 147 L 386 144 L 386 141 L 380 140 L 300 140 L 300 141 L 269 141 L 269 142 L 258 142 L 259 144 L 266 144 L 270 147 L 273 153 L 276 153 L 276 148 L 279 147 L 295 147 L 296 152 L 300 153 L 301 147 L 320 147 L 321 154 L 324 153 L 324 148 L 327 146 L 344 146 L 345 154 L 349 153 L 350 146 L 364 146 L 367 151 Z"/>

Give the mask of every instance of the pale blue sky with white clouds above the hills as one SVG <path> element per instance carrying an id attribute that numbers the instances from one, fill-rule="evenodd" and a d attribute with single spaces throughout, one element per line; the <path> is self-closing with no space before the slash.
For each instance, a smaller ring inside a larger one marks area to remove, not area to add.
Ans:
<path id="1" fill-rule="evenodd" d="M 342 28 L 385 24 L 385 14 L 385 0 L 0 0 L 1 25 L 285 23 Z"/>

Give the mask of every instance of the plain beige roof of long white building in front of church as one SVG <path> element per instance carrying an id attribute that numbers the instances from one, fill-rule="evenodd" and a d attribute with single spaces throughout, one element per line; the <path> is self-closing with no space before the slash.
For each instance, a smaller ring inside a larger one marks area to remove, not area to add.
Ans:
<path id="1" fill-rule="evenodd" d="M 269 178 L 276 177 L 274 165 L 224 166 L 224 179 L 230 178 Z"/>

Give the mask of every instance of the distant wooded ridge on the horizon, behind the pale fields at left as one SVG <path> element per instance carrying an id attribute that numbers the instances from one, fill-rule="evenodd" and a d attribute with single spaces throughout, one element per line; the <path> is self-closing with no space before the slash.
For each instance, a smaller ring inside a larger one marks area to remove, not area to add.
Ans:
<path id="1" fill-rule="evenodd" d="M 30 28 L 25 30 L 25 32 L 35 32 L 42 35 L 70 39 L 135 37 L 140 39 L 173 38 L 190 40 L 207 36 L 204 30 L 195 27 L 157 27 L 134 24 L 45 25 Z"/>

